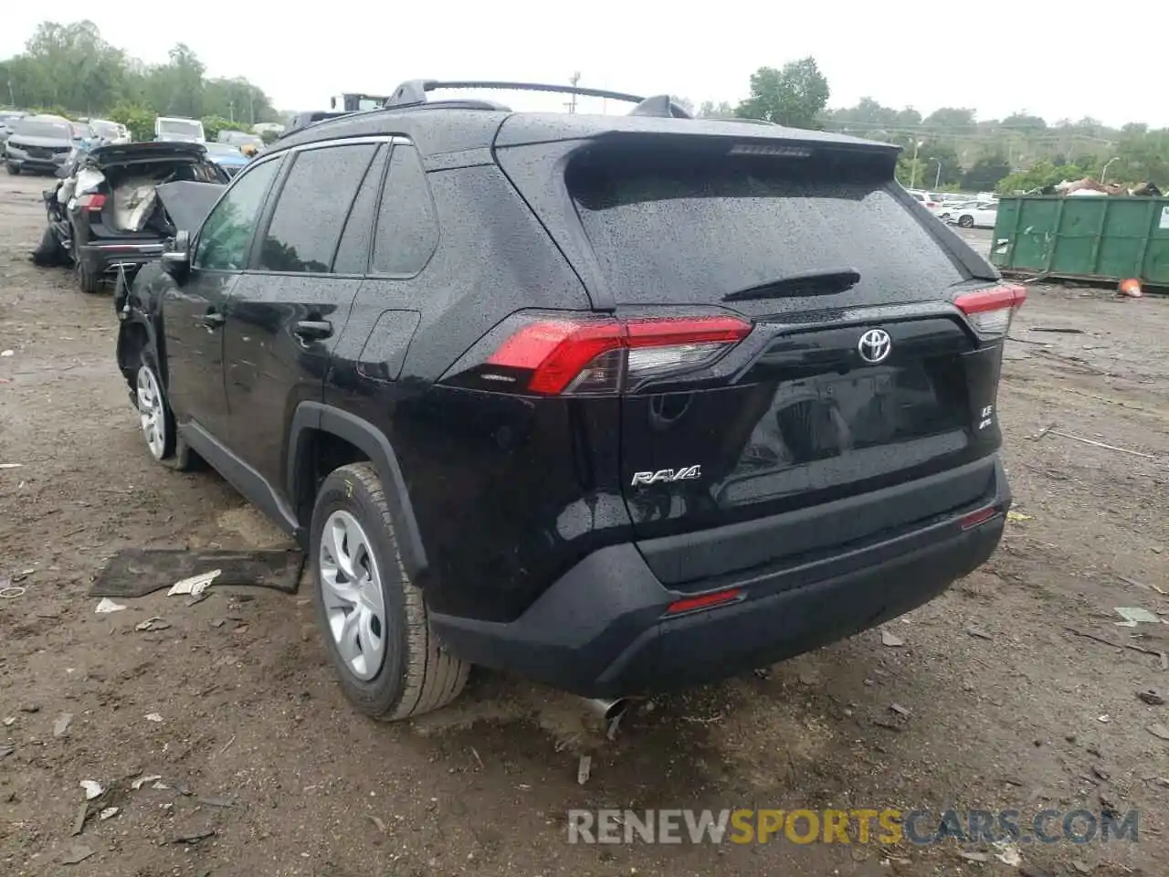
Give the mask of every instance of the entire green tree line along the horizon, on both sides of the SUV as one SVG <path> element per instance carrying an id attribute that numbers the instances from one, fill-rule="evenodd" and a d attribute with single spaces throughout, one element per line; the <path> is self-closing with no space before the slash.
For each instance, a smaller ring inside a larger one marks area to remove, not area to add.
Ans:
<path id="1" fill-rule="evenodd" d="M 4 91 L 7 90 L 7 95 Z M 831 90 L 812 57 L 761 67 L 748 97 L 738 104 L 701 103 L 696 115 L 766 119 L 791 127 L 823 129 L 895 143 L 902 147 L 898 179 L 906 186 L 1001 192 L 1029 191 L 1107 166 L 1113 182 L 1155 182 L 1169 188 L 1169 129 L 1132 123 L 1108 127 L 1092 118 L 1049 124 L 1015 113 L 978 119 L 968 108 L 943 106 L 922 116 L 912 106 L 884 106 L 871 97 L 828 109 Z M 693 111 L 685 98 L 677 98 Z M 282 113 L 263 89 L 244 78 L 208 78 L 185 43 L 162 64 L 144 64 L 102 36 L 91 21 L 42 22 L 25 51 L 0 61 L 0 103 L 106 117 L 127 125 L 136 139 L 153 136 L 155 116 L 203 119 L 208 134 L 224 127 L 278 122 Z"/>

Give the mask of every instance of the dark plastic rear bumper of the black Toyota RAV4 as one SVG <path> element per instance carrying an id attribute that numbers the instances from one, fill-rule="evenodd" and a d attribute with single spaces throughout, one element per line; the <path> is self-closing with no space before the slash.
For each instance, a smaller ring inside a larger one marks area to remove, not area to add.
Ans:
<path id="1" fill-rule="evenodd" d="M 994 506 L 988 520 L 962 518 Z M 781 568 L 719 576 L 735 602 L 667 616 L 666 588 L 632 544 L 590 554 L 512 622 L 431 614 L 443 643 L 473 663 L 587 697 L 649 693 L 727 678 L 826 645 L 942 593 L 998 545 L 1010 490 L 995 462 L 975 507 L 912 532 Z M 698 592 L 699 594 L 701 592 Z"/>

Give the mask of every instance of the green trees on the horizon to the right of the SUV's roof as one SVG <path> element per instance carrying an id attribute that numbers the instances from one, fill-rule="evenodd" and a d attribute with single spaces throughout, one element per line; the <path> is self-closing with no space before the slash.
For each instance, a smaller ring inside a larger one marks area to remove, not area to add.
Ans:
<path id="1" fill-rule="evenodd" d="M 762 67 L 738 105 L 704 102 L 698 116 L 753 118 L 895 143 L 897 177 L 906 186 L 981 192 L 1026 192 L 1084 177 L 1112 182 L 1155 182 L 1169 188 L 1169 129 L 1130 123 L 1108 127 L 1093 118 L 1049 124 L 1030 113 L 978 119 L 967 108 L 943 106 L 922 116 L 865 97 L 856 106 L 828 109 L 830 89 L 815 58 Z M 683 102 L 689 104 L 689 102 Z"/>

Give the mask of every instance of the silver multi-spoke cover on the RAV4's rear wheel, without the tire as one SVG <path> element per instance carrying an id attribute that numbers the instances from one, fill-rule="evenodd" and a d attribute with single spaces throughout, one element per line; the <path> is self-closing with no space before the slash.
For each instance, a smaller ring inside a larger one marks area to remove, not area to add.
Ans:
<path id="1" fill-rule="evenodd" d="M 386 655 L 386 602 L 369 538 L 353 515 L 328 516 L 318 561 L 325 617 L 337 650 L 350 672 L 372 679 Z"/>

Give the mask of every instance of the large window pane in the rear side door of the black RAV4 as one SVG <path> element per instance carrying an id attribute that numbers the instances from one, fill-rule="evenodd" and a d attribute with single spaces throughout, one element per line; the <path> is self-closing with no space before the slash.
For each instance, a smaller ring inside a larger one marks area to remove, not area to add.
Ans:
<path id="1" fill-rule="evenodd" d="M 260 270 L 330 272 L 345 217 L 376 150 L 376 144 L 353 144 L 296 157 L 260 248 Z"/>

